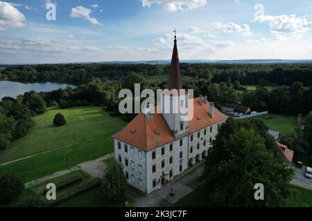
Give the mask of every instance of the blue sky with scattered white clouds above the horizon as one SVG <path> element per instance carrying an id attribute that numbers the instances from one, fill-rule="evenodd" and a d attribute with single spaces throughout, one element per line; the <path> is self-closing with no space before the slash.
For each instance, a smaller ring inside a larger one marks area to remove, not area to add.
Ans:
<path id="1" fill-rule="evenodd" d="M 311 0 L 8 0 L 0 64 L 168 60 L 175 28 L 180 60 L 312 59 Z"/>

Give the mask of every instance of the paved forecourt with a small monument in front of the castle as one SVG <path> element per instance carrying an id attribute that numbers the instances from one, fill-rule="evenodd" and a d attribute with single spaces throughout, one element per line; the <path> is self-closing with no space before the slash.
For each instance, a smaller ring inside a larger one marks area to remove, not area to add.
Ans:
<path id="1" fill-rule="evenodd" d="M 204 161 L 197 166 L 194 166 L 190 171 L 186 171 L 173 182 L 169 182 L 159 191 L 154 191 L 148 195 L 139 193 L 137 190 L 129 188 L 127 195 L 135 200 L 132 206 L 134 207 L 163 207 L 173 206 L 175 202 L 183 198 L 185 195 L 194 191 L 203 181 L 198 181 L 198 174 L 202 172 L 205 167 Z M 175 189 L 175 200 L 167 199 L 168 193 L 171 188 Z"/>

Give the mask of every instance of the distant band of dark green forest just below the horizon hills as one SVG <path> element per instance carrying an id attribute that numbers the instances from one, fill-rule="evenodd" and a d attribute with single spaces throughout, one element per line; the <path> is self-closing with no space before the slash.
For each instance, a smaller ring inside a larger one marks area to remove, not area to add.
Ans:
<path id="1" fill-rule="evenodd" d="M 18 81 L 62 81 L 84 84 L 94 78 L 121 79 L 131 72 L 144 77 L 168 75 L 166 64 L 41 64 L 12 66 L 2 71 L 0 79 Z M 241 84 L 291 86 L 301 81 L 312 85 L 312 64 L 181 64 L 184 77 L 203 78 L 211 73 L 212 83 L 240 81 Z"/>

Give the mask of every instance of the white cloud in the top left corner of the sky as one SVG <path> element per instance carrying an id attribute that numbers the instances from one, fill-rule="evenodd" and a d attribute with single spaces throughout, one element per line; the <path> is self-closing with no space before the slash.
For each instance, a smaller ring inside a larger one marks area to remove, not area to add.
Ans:
<path id="1" fill-rule="evenodd" d="M 25 16 L 10 3 L 0 1 L 0 30 L 24 27 Z"/>

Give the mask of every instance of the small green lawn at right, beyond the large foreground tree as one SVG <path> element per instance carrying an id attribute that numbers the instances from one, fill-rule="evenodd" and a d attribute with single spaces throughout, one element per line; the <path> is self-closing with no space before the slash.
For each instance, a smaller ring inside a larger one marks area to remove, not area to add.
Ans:
<path id="1" fill-rule="evenodd" d="M 294 116 L 268 114 L 252 117 L 249 119 L 253 118 L 263 120 L 268 128 L 274 131 L 279 131 L 279 134 L 282 136 L 287 136 L 291 133 L 295 133 L 297 119 Z"/>

